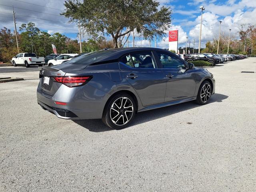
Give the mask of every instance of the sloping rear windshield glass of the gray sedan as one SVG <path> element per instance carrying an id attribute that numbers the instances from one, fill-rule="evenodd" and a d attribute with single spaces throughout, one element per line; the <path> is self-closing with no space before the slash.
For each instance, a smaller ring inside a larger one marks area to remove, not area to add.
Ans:
<path id="1" fill-rule="evenodd" d="M 102 61 L 104 58 L 108 57 L 113 52 L 114 51 L 96 51 L 76 57 L 68 62 L 65 62 L 64 64 L 77 64 L 86 66 Z"/>

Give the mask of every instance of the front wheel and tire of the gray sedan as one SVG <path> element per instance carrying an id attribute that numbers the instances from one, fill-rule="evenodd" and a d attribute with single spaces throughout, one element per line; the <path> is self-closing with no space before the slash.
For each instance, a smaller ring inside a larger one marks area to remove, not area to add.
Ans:
<path id="1" fill-rule="evenodd" d="M 206 89 L 206 92 L 204 91 L 204 89 Z M 209 81 L 206 80 L 202 82 L 202 84 L 200 85 L 200 88 L 198 90 L 198 94 L 196 97 L 196 103 L 200 105 L 205 105 L 209 102 L 211 96 L 212 96 L 212 85 L 210 84 Z"/>

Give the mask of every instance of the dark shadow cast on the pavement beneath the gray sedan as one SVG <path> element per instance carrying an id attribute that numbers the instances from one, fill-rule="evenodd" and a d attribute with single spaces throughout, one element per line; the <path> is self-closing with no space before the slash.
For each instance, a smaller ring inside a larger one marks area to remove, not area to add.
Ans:
<path id="1" fill-rule="evenodd" d="M 228 98 L 228 96 L 223 94 L 215 93 L 212 95 L 209 103 L 214 102 L 222 102 L 222 100 Z M 182 112 L 185 110 L 189 110 L 192 108 L 200 107 L 201 105 L 196 104 L 194 101 L 185 102 L 181 104 L 176 104 L 164 108 L 158 108 L 154 110 L 149 110 L 145 112 L 140 112 L 135 115 L 134 121 L 130 126 L 134 126 L 137 124 L 141 124 L 144 122 L 148 122 L 151 120 L 155 120 L 158 118 L 162 118 L 165 116 L 169 116 L 178 112 Z M 104 131 L 110 131 L 113 130 L 106 126 L 101 119 L 90 119 L 90 120 L 73 120 L 76 124 L 88 129 L 92 132 L 104 132 Z"/>

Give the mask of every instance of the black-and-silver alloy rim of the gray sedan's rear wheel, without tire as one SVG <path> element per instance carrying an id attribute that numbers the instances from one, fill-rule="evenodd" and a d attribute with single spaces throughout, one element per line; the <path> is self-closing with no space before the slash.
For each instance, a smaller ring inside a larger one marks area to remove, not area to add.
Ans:
<path id="1" fill-rule="evenodd" d="M 133 112 L 132 101 L 127 97 L 120 97 L 111 105 L 110 118 L 114 124 L 122 126 L 130 121 Z"/>

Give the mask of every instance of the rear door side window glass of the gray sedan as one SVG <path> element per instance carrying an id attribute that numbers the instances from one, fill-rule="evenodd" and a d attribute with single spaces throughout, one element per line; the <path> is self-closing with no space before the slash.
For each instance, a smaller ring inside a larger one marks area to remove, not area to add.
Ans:
<path id="1" fill-rule="evenodd" d="M 133 52 L 122 56 L 120 62 L 133 68 L 156 68 L 152 52 Z"/>

